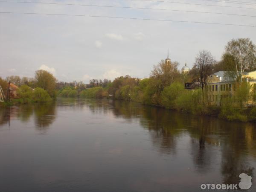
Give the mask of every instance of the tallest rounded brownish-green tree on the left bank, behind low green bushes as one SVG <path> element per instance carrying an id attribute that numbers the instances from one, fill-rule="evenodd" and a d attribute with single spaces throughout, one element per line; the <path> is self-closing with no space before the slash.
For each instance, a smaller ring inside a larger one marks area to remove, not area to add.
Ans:
<path id="1" fill-rule="evenodd" d="M 51 97 L 55 97 L 56 81 L 55 77 L 45 70 L 35 72 L 36 86 L 46 90 Z"/>

